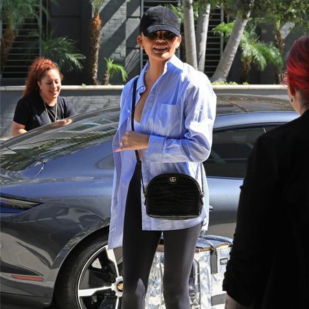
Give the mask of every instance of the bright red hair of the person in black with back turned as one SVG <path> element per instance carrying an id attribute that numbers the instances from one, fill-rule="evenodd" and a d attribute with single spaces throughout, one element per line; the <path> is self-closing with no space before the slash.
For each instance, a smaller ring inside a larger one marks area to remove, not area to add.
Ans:
<path id="1" fill-rule="evenodd" d="M 309 99 L 309 36 L 294 42 L 286 60 L 288 86 L 295 95 L 296 89 Z"/>

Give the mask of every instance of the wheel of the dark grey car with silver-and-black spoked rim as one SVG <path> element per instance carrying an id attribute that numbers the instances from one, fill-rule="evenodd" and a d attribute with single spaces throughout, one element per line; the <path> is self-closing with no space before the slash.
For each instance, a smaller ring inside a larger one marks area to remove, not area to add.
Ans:
<path id="1" fill-rule="evenodd" d="M 122 254 L 107 249 L 104 236 L 87 240 L 65 263 L 56 287 L 61 309 L 119 309 Z"/>

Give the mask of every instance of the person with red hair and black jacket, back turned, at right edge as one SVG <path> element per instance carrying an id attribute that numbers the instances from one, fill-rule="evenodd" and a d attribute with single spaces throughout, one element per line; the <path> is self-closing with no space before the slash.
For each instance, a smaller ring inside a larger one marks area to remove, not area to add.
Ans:
<path id="1" fill-rule="evenodd" d="M 283 82 L 297 119 L 260 136 L 241 187 L 223 282 L 226 309 L 309 308 L 309 36 Z"/>

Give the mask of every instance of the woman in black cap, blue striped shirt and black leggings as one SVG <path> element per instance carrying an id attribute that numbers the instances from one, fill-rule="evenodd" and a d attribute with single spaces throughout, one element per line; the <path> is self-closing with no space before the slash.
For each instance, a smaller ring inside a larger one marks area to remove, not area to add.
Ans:
<path id="1" fill-rule="evenodd" d="M 163 290 L 167 309 L 188 309 L 188 279 L 201 227 L 207 228 L 209 196 L 201 162 L 209 156 L 216 95 L 204 73 L 181 62 L 179 21 L 156 6 L 141 18 L 137 43 L 148 63 L 137 78 L 134 128 L 131 130 L 133 80 L 124 87 L 119 128 L 113 139 L 115 175 L 108 247 L 123 247 L 122 309 L 145 308 L 148 276 L 163 233 Z M 135 150 L 139 150 L 141 172 Z M 158 174 L 181 172 L 203 183 L 201 216 L 163 220 L 147 216 L 141 194 Z M 202 181 L 203 179 L 203 181 Z"/>

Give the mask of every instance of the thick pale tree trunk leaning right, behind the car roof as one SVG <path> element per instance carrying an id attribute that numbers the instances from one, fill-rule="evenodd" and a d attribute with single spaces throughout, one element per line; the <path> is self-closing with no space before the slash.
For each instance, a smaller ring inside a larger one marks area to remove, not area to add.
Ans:
<path id="1" fill-rule="evenodd" d="M 227 80 L 229 70 L 231 69 L 231 65 L 240 44 L 240 38 L 244 32 L 244 27 L 247 25 L 250 13 L 251 12 L 248 12 L 244 19 L 240 17 L 236 18 L 235 25 L 229 36 L 229 41 L 227 41 L 227 45 L 225 46 L 225 50 L 220 58 L 218 67 L 216 68 L 214 75 L 211 77 L 211 82 L 225 82 Z"/>

